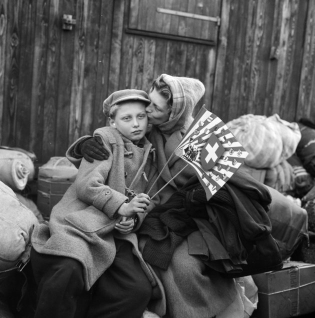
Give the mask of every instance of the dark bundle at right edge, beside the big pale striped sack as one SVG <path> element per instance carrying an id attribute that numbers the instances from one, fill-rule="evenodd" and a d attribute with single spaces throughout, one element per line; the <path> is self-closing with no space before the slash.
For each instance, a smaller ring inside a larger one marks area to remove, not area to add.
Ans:
<path id="1" fill-rule="evenodd" d="M 296 154 L 302 161 L 303 167 L 315 177 L 315 129 L 298 123 L 301 139 L 296 147 Z"/>

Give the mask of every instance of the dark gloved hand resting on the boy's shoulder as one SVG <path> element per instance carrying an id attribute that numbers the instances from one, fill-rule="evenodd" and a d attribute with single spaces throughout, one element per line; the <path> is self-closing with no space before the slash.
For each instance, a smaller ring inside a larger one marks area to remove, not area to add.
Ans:
<path id="1" fill-rule="evenodd" d="M 96 160 L 107 160 L 108 152 L 103 147 L 103 142 L 99 136 L 95 136 L 83 141 L 80 145 L 80 152 L 88 162 Z"/>

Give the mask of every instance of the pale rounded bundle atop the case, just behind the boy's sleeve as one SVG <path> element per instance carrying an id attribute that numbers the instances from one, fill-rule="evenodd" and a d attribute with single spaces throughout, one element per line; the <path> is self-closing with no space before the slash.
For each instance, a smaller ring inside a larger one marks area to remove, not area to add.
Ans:
<path id="1" fill-rule="evenodd" d="M 51 157 L 38 168 L 38 176 L 74 181 L 77 168 L 66 157 Z"/>

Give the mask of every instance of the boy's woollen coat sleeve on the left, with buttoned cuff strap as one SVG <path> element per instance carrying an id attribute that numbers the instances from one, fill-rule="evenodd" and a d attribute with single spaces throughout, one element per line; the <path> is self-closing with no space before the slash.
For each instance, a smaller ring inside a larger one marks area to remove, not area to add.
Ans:
<path id="1" fill-rule="evenodd" d="M 88 162 L 82 158 L 74 181 L 77 197 L 89 205 L 103 211 L 109 218 L 115 218 L 115 212 L 128 197 L 106 185 L 113 156 L 108 144 L 104 147 L 109 153 L 107 160 Z"/>

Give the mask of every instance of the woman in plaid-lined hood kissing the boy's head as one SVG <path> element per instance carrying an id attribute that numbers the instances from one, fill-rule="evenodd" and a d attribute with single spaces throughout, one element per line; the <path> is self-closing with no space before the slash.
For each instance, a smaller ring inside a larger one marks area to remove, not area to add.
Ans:
<path id="1" fill-rule="evenodd" d="M 185 165 L 181 158 L 174 155 L 163 168 L 189 127 L 192 110 L 203 93 L 204 85 L 195 78 L 161 74 L 152 83 L 148 94 L 150 103 L 145 110 L 148 121 L 152 124 L 148 139 L 156 150 L 158 171 L 161 172 L 158 188 L 161 188 Z M 81 145 L 80 142 L 76 143 L 76 146 L 72 145 L 67 151 L 67 156 L 69 159 L 72 158 L 73 163 L 79 162 L 80 152 L 84 155 L 88 152 L 96 159 L 102 159 L 105 155 L 95 140 L 85 140 L 85 138 L 81 137 L 78 140 L 81 141 Z M 96 148 L 95 156 L 93 149 Z M 159 192 L 160 202 L 166 202 L 192 175 L 194 175 L 193 170 L 190 167 L 185 168 Z M 208 318 L 217 315 L 219 317 L 218 314 L 228 308 L 235 299 L 239 300 L 235 282 L 209 269 L 200 258 L 194 256 L 193 254 L 198 252 L 193 244 L 189 244 L 190 241 L 193 240 L 188 235 L 176 247 L 166 270 L 154 268 L 165 289 L 167 316 Z M 158 302 L 154 302 L 151 310 L 160 315 L 165 311 Z M 233 310 L 232 316 L 238 317 L 238 313 Z M 243 308 L 240 308 L 239 316 L 242 315 Z M 222 313 L 222 317 L 227 316 Z"/>

